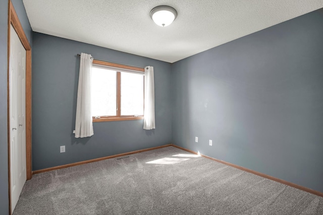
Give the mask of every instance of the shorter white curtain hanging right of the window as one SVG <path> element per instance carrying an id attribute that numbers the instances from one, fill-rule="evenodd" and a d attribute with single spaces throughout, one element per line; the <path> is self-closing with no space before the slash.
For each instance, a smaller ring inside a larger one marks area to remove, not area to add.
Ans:
<path id="1" fill-rule="evenodd" d="M 143 129 L 155 128 L 155 90 L 153 81 L 153 67 L 145 67 L 145 109 Z"/>

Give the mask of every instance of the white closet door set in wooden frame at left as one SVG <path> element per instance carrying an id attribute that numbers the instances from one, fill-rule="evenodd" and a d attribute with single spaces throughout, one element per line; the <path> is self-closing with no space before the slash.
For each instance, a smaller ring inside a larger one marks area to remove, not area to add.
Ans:
<path id="1" fill-rule="evenodd" d="M 26 50 L 12 26 L 9 68 L 11 211 L 13 212 L 26 182 Z"/>

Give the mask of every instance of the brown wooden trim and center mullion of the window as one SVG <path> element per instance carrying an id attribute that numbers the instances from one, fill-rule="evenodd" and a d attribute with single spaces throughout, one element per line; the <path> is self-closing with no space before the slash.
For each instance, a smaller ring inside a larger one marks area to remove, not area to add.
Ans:
<path id="1" fill-rule="evenodd" d="M 110 62 L 105 62 L 105 61 L 99 61 L 93 59 L 92 62 L 93 65 L 100 65 L 100 66 L 109 66 L 109 67 L 115 67 L 115 68 L 120 68 L 120 69 L 128 69 L 128 70 L 134 70 L 138 72 L 145 72 L 144 68 L 140 67 L 133 67 L 133 66 L 127 66 L 127 65 L 122 65 L 122 64 L 115 64 L 115 63 L 110 63 Z M 121 107 L 121 72 L 117 71 L 117 116 L 100 116 L 100 118 L 93 117 L 92 116 L 92 122 L 111 122 L 111 121 L 127 121 L 127 120 L 143 120 L 143 116 L 121 116 L 121 110 L 119 107 Z M 145 100 L 145 98 L 143 98 Z"/>

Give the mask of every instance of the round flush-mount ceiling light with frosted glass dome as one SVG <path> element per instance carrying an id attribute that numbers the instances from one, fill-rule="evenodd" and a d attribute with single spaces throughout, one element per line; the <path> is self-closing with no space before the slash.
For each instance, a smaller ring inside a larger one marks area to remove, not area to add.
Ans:
<path id="1" fill-rule="evenodd" d="M 165 27 L 176 19 L 177 11 L 170 6 L 157 6 L 150 11 L 151 19 L 159 26 Z"/>

